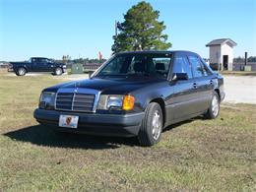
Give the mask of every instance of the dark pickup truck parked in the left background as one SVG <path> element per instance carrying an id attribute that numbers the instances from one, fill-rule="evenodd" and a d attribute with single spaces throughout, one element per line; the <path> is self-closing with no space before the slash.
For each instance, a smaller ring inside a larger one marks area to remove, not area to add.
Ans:
<path id="1" fill-rule="evenodd" d="M 66 64 L 57 63 L 45 57 L 32 57 L 27 62 L 10 62 L 8 71 L 15 72 L 17 76 L 24 76 L 29 72 L 46 72 L 53 75 L 62 75 L 66 72 Z"/>

